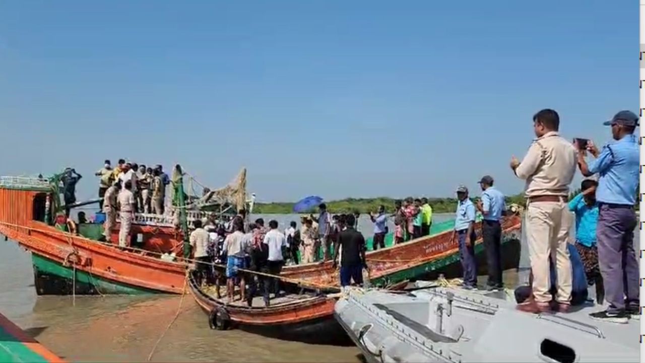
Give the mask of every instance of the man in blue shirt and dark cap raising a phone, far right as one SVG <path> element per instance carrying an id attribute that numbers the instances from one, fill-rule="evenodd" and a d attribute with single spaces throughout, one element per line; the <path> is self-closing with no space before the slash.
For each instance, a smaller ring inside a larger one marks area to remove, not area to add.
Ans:
<path id="1" fill-rule="evenodd" d="M 584 176 L 598 173 L 596 199 L 599 218 L 596 230 L 600 274 L 605 284 L 606 311 L 591 313 L 591 318 L 625 324 L 630 315 L 639 313 L 639 263 L 634 251 L 637 225 L 634 205 L 639 185 L 640 150 L 634 131 L 639 117 L 620 111 L 610 121 L 616 140 L 599 150 L 591 143 L 587 150 L 596 160 L 587 165 L 584 152 L 578 153 L 578 165 Z"/>

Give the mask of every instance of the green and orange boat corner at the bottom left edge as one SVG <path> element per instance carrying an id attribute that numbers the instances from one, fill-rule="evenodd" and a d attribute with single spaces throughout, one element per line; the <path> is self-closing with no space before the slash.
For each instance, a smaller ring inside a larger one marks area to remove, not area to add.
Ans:
<path id="1" fill-rule="evenodd" d="M 63 363 L 64 360 L 0 314 L 0 362 Z"/>

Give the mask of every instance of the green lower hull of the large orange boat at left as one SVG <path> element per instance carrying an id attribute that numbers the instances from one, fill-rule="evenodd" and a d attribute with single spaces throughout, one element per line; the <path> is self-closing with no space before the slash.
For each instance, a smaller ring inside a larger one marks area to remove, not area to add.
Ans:
<path id="1" fill-rule="evenodd" d="M 58 262 L 32 253 L 34 284 L 38 295 L 144 295 L 163 293 L 115 280 L 90 275 L 79 269 L 75 272 Z M 75 280 L 75 281 L 74 281 Z"/>

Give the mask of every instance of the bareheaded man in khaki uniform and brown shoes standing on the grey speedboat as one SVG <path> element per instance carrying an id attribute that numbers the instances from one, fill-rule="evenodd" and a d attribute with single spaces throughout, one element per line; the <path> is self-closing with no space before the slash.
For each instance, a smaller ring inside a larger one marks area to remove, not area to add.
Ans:
<path id="1" fill-rule="evenodd" d="M 533 128 L 537 139 L 522 162 L 515 156 L 511 159 L 515 175 L 526 180 L 526 238 L 535 300 L 522 304 L 519 309 L 531 313 L 549 309 L 549 258 L 557 269 L 555 300 L 559 311 L 566 311 L 571 300 L 571 262 L 567 249 L 571 220 L 565 213 L 577 151 L 558 134 L 559 126 L 560 118 L 554 110 L 535 114 Z"/>

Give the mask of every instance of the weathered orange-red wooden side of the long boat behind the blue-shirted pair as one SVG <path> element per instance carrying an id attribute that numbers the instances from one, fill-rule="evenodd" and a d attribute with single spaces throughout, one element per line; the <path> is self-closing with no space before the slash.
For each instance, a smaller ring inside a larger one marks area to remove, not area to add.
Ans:
<path id="1" fill-rule="evenodd" d="M 519 214 L 511 214 L 502 219 L 502 245 L 519 245 L 521 225 Z M 475 233 L 475 254 L 481 254 L 484 250 L 481 222 L 475 225 Z M 452 231 L 445 231 L 366 253 L 372 284 L 385 286 L 420 278 L 458 262 L 459 247 L 456 240 L 451 241 L 451 237 Z M 519 249 L 510 257 L 519 262 Z M 338 272 L 333 269 L 331 261 L 291 266 L 283 269 L 281 276 L 321 286 L 339 285 Z"/>

